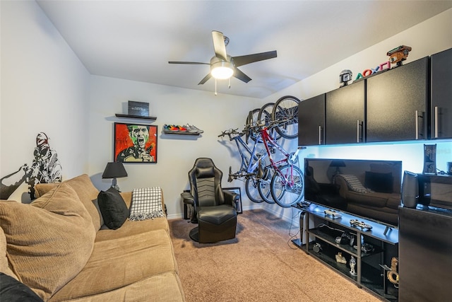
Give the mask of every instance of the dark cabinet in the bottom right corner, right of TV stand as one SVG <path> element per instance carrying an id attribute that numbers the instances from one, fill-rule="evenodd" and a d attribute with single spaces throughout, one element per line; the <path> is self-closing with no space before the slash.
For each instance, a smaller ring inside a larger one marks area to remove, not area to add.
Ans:
<path id="1" fill-rule="evenodd" d="M 399 301 L 451 301 L 452 212 L 399 209 Z"/>

